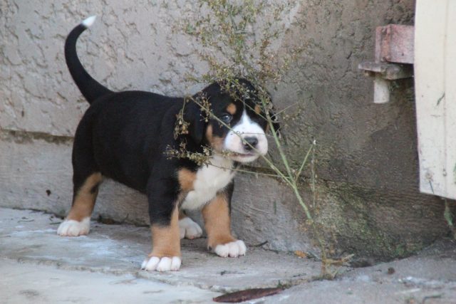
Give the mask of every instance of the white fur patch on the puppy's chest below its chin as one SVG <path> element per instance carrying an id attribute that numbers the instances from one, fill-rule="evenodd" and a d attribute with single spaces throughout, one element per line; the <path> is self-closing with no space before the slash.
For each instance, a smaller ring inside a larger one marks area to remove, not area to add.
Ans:
<path id="1" fill-rule="evenodd" d="M 201 208 L 233 179 L 235 172 L 231 170 L 231 159 L 214 156 L 210 163 L 198 169 L 193 190 L 185 197 L 182 209 Z"/>

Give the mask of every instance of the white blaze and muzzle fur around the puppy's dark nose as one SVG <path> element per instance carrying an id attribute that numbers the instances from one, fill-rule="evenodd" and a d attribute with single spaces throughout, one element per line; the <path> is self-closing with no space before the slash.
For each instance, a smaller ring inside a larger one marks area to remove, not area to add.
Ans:
<path id="1" fill-rule="evenodd" d="M 254 150 L 246 150 L 243 139 L 246 137 L 255 137 L 258 144 Z M 252 162 L 268 152 L 268 141 L 264 134 L 263 128 L 257 122 L 253 122 L 247 112 L 242 112 L 242 117 L 232 130 L 228 132 L 224 140 L 224 150 L 236 153 L 231 158 L 237 162 Z"/>

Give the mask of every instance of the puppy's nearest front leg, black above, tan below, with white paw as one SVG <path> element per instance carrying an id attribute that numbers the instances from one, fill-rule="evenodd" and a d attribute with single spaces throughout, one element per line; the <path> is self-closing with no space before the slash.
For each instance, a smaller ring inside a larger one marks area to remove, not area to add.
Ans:
<path id="1" fill-rule="evenodd" d="M 157 187 L 154 188 L 158 191 Z M 151 192 L 147 196 L 152 252 L 142 262 L 141 268 L 146 271 L 177 271 L 182 263 L 177 199 L 172 201 L 167 195 L 161 195 L 160 200 L 157 194 L 163 191 L 154 192 L 154 189 L 151 189 Z"/>

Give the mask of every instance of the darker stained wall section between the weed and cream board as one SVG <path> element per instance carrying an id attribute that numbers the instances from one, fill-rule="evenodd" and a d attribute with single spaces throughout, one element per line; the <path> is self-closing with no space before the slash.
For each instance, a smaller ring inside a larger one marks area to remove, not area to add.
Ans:
<path id="1" fill-rule="evenodd" d="M 316 217 L 334 253 L 404 256 L 447 233 L 442 200 L 419 193 L 413 80 L 396 82 L 392 102 L 375 105 L 372 80 L 357 69 L 373 60 L 375 26 L 413 25 L 414 7 L 306 1 L 284 38 L 308 44 L 274 98 L 279 108 L 302 101 L 285 132 L 300 140 L 288 148 L 299 162 L 303 143 L 318 143 Z"/>

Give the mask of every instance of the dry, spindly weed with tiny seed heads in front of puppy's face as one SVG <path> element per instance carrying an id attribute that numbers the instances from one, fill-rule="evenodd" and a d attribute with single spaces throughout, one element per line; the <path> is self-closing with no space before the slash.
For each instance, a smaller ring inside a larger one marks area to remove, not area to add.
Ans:
<path id="1" fill-rule="evenodd" d="M 306 154 L 300 164 L 293 165 L 289 161 L 286 153 L 286 145 L 276 129 L 276 122 L 279 120 L 283 126 L 284 121 L 279 117 L 286 117 L 286 121 L 293 120 L 301 112 L 294 111 L 294 114 L 286 114 L 286 110 L 296 107 L 291 105 L 280 112 L 272 113 L 272 103 L 269 93 L 264 88 L 279 83 L 289 64 L 292 63 L 301 53 L 303 48 L 295 47 L 287 50 L 285 56 L 279 56 L 277 41 L 284 35 L 284 18 L 296 9 L 295 1 L 267 1 L 267 0 L 247 0 L 247 1 L 227 1 L 227 0 L 200 0 L 197 11 L 197 19 L 183 20 L 182 29 L 187 34 L 193 36 L 202 45 L 199 56 L 209 64 L 209 72 L 200 76 L 189 76 L 189 80 L 199 83 L 218 82 L 226 92 L 232 93 L 234 98 L 242 95 L 248 98 L 254 94 L 260 100 L 260 106 L 264 114 L 264 119 L 269 124 L 271 130 L 271 140 L 274 142 L 279 164 L 271 159 L 271 155 L 261 157 L 261 162 L 267 168 L 259 167 L 239 167 L 239 172 L 263 174 L 275 177 L 286 184 L 296 196 L 306 214 L 307 224 L 311 226 L 314 238 L 318 242 L 321 250 L 321 278 L 332 279 L 338 273 L 338 267 L 347 263 L 351 256 L 333 260 L 326 255 L 326 246 L 318 231 L 309 208 L 301 196 L 302 174 L 304 169 L 310 168 L 310 189 L 314 194 L 311 202 L 316 206 L 316 172 L 314 168 L 316 141 L 313 140 L 310 147 L 306 149 Z M 287 21 L 291 22 L 291 21 Z M 256 92 L 250 92 L 244 85 L 240 84 L 238 78 L 249 80 Z M 239 94 L 240 93 L 240 94 Z M 226 125 L 218 117 L 212 115 L 210 102 L 205 96 L 197 98 L 187 98 L 188 102 L 197 103 L 204 112 L 203 120 L 212 118 L 218 120 L 220 124 Z M 185 105 L 184 105 L 185 107 Z M 299 105 L 298 105 L 299 108 Z M 183 119 L 183 110 L 177 119 L 175 136 L 187 134 L 188 124 Z M 292 109 L 294 110 L 294 109 Z M 254 148 L 254 147 L 252 147 Z M 169 150 L 170 157 L 185 157 L 192 159 L 198 164 L 209 164 L 211 148 L 204 147 L 202 153 L 191 153 L 185 149 L 183 143 L 179 150 Z M 309 162 L 310 160 L 310 162 Z M 336 270 L 334 270 L 335 268 Z"/>

